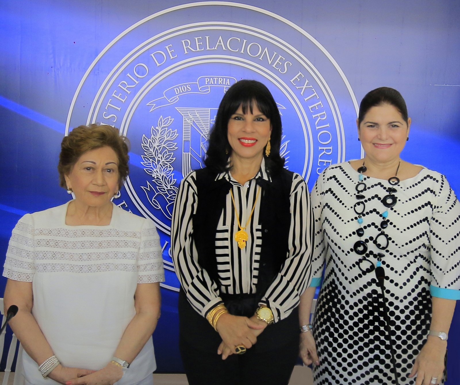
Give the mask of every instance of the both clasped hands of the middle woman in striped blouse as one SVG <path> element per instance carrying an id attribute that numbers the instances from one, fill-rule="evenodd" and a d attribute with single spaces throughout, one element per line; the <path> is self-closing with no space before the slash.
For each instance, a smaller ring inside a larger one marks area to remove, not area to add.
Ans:
<path id="1" fill-rule="evenodd" d="M 225 360 L 235 353 L 238 345 L 244 345 L 246 349 L 250 349 L 257 342 L 257 337 L 265 327 L 267 323 L 260 321 L 255 315 L 251 318 L 231 314 L 222 315 L 216 325 L 222 338 L 217 354 L 221 354 L 222 359 Z"/>

